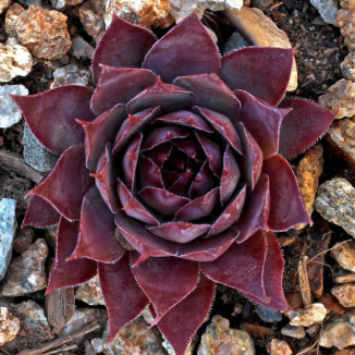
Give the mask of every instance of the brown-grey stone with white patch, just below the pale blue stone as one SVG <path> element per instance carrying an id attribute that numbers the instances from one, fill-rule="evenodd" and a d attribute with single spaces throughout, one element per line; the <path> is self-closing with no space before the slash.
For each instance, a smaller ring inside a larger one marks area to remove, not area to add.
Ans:
<path id="1" fill-rule="evenodd" d="M 44 290 L 47 255 L 47 244 L 45 240 L 39 238 L 25 253 L 14 258 L 9 266 L 1 295 L 16 297 Z"/>

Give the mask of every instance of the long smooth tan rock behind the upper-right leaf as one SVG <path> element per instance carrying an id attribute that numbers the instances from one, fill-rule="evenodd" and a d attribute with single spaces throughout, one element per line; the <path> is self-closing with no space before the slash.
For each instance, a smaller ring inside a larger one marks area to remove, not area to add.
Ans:
<path id="1" fill-rule="evenodd" d="M 280 29 L 270 17 L 256 8 L 243 7 L 241 11 L 227 10 L 229 20 L 255 46 L 292 48 L 287 35 Z M 293 59 L 293 68 L 287 91 L 297 88 L 297 65 Z"/>

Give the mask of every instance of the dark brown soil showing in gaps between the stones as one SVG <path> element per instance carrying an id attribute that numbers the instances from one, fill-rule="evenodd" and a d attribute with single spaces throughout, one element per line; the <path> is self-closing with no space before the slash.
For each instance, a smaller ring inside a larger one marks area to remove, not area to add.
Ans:
<path id="1" fill-rule="evenodd" d="M 13 1 L 24 3 L 24 1 Z M 47 5 L 49 1 L 44 1 Z M 253 3 L 252 3 L 253 5 Z M 295 50 L 295 57 L 298 70 L 298 88 L 292 93 L 292 96 L 299 96 L 310 100 L 317 101 L 317 98 L 327 91 L 327 88 L 334 84 L 342 77 L 340 71 L 340 63 L 347 53 L 347 49 L 343 46 L 343 38 L 339 28 L 321 24 L 320 17 L 315 8 L 310 5 L 308 0 L 284 0 L 283 2 L 272 2 L 269 8 L 273 10 L 266 10 L 265 13 L 270 16 L 273 22 L 283 29 Z M 74 24 L 78 34 L 86 40 L 89 40 L 93 46 L 95 42 L 82 28 L 77 19 L 77 11 L 75 8 L 64 11 L 69 16 L 70 24 Z M 219 14 L 217 14 L 218 19 Z M 4 16 L 0 16 L 0 40 L 5 40 L 4 34 Z M 164 30 L 163 30 L 164 32 Z M 161 32 L 157 32 L 161 35 Z M 225 38 L 227 39 L 227 38 Z M 88 66 L 89 61 L 82 61 L 81 64 Z M 49 88 L 52 79 L 52 68 L 45 61 L 38 61 L 34 70 L 27 77 L 17 77 L 8 84 L 23 84 L 30 94 L 44 91 Z M 22 155 L 23 145 L 23 122 L 13 125 L 8 130 L 0 130 L 0 149 L 12 151 Z M 321 142 L 325 148 L 325 171 L 320 178 L 320 183 L 334 178 L 342 176 L 347 179 L 355 185 L 355 172 L 347 163 L 340 160 L 332 151 L 332 149 Z M 298 158 L 299 159 L 299 158 Z M 297 159 L 293 161 L 297 163 Z M 17 222 L 22 222 L 26 210 L 26 201 L 24 199 L 25 193 L 34 186 L 34 182 L 21 176 L 13 169 L 0 164 L 0 199 L 3 197 L 14 198 L 17 200 Z M 279 237 L 295 237 L 294 242 L 284 247 L 285 259 L 285 274 L 284 289 L 286 292 L 298 290 L 297 282 L 297 265 L 299 259 L 308 250 L 309 245 L 313 245 L 317 240 L 321 238 L 325 231 L 331 232 L 330 247 L 336 242 L 348 238 L 348 236 L 339 228 L 329 225 L 316 212 L 313 215 L 315 221 L 314 227 L 306 228 L 303 231 L 290 231 L 289 233 L 280 233 Z M 41 236 L 42 231 L 36 231 L 36 236 Z M 54 250 L 51 249 L 51 256 Z M 14 256 L 16 253 L 14 252 Z M 328 267 L 325 271 L 325 290 L 323 293 L 330 291 L 333 285 L 332 268 L 334 261 L 326 257 L 325 264 Z M 35 299 L 40 305 L 44 305 L 44 292 L 30 294 L 21 299 L 11 299 L 14 302 L 24 301 L 26 298 Z M 293 340 L 292 338 L 284 338 L 280 330 L 287 323 L 286 317 L 283 321 L 276 323 L 266 323 L 260 320 L 254 310 L 254 305 L 240 295 L 236 291 L 224 286 L 218 286 L 217 296 L 211 309 L 211 315 L 222 315 L 231 322 L 231 327 L 241 328 L 243 323 L 252 323 L 255 326 L 264 326 L 271 328 L 276 332 L 276 338 L 286 340 L 287 343 L 297 354 L 306 348 L 308 352 L 303 354 L 333 354 L 333 350 L 317 348 L 313 345 L 317 342 L 318 332 L 313 336 L 306 335 L 302 340 Z M 206 325 L 199 330 L 201 334 Z M 29 334 L 28 334 L 29 336 Z M 84 339 L 84 338 L 83 338 Z M 254 338 L 256 344 L 256 354 L 268 354 L 266 344 L 267 341 L 262 338 Z M 197 348 L 197 346 L 196 346 Z M 1 350 L 0 350 L 1 354 Z M 7 353 L 5 353 L 7 354 Z M 79 351 L 69 351 L 65 354 L 84 354 L 83 348 Z"/>

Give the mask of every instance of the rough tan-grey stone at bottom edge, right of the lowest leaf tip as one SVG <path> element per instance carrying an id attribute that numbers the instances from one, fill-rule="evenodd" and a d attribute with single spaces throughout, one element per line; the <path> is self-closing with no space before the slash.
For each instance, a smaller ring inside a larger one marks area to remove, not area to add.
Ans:
<path id="1" fill-rule="evenodd" d="M 201 336 L 197 355 L 254 355 L 252 336 L 237 329 L 231 329 L 228 319 L 215 316 Z"/>

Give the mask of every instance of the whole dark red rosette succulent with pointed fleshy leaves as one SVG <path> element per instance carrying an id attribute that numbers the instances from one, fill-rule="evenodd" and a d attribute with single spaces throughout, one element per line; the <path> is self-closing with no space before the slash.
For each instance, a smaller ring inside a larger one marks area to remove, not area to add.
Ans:
<path id="1" fill-rule="evenodd" d="M 94 56 L 95 90 L 13 96 L 60 155 L 23 222 L 59 223 L 47 293 L 98 273 L 110 339 L 150 305 L 178 355 L 216 282 L 286 309 L 273 232 L 310 223 L 286 159 L 333 120 L 283 99 L 292 61 L 292 49 L 257 47 L 220 58 L 196 15 L 157 41 L 114 17 Z"/>

